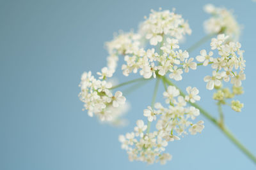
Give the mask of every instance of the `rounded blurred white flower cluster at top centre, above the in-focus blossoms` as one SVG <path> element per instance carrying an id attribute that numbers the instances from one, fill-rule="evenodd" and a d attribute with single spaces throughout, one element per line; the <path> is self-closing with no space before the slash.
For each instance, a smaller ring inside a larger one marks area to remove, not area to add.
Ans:
<path id="1" fill-rule="evenodd" d="M 163 41 L 163 36 L 182 39 L 185 34 L 191 34 L 188 22 L 181 15 L 169 10 L 151 10 L 149 17 L 140 25 L 140 33 L 149 40 L 150 45 Z"/>

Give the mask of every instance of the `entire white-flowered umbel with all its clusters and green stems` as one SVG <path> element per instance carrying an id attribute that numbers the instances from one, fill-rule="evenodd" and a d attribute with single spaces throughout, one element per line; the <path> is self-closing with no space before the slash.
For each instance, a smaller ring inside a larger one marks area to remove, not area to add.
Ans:
<path id="1" fill-rule="evenodd" d="M 223 105 L 230 106 L 234 111 L 241 111 L 243 108 L 243 103 L 234 100 L 234 97 L 243 94 L 241 82 L 245 80 L 244 51 L 237 41 L 241 26 L 225 8 L 216 8 L 209 4 L 205 6 L 205 11 L 212 15 L 204 23 L 208 35 L 188 50 L 181 50 L 179 46 L 180 40 L 186 34 L 191 34 L 188 22 L 175 13 L 175 10 L 152 10 L 140 24 L 138 32 L 120 32 L 113 41 L 106 43 L 108 62 L 97 73 L 99 78 L 95 78 L 91 72 L 81 76 L 79 97 L 84 103 L 84 109 L 88 110 L 90 117 L 95 115 L 100 121 L 109 124 L 124 123 L 121 116 L 128 108 L 123 93 L 116 91 L 118 87 L 136 81 L 156 79 L 151 106 L 143 110 L 147 125 L 143 120 L 137 120 L 134 131 L 119 136 L 122 149 L 127 151 L 130 160 L 165 164 L 166 160 L 172 159 L 170 153 L 164 152 L 169 143 L 188 134 L 195 135 L 203 131 L 204 121 L 197 120 L 202 113 L 256 162 L 252 153 L 225 127 L 221 109 Z M 214 52 L 202 49 L 196 57 L 189 56 L 189 52 L 210 38 L 211 50 Z M 124 76 L 138 73 L 142 78 L 113 85 L 109 78 L 115 73 L 120 58 L 125 62 L 122 65 Z M 196 104 L 200 100 L 196 87 L 187 87 L 184 93 L 173 83 L 173 80 L 181 81 L 182 74 L 198 69 L 199 66 L 209 66 L 213 70 L 211 75 L 205 75 L 204 81 L 208 90 L 214 90 L 213 99 L 217 101 L 220 112 L 218 119 Z M 165 88 L 165 105 L 156 103 L 160 81 Z M 229 88 L 227 83 L 232 87 Z M 156 131 L 150 131 L 153 121 L 156 121 Z"/>

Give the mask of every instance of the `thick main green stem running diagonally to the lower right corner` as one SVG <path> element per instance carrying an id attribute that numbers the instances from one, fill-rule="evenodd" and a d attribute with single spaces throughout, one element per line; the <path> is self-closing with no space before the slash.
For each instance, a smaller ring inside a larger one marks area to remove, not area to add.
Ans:
<path id="1" fill-rule="evenodd" d="M 166 78 L 165 76 L 163 76 L 162 79 L 163 79 L 163 81 L 168 83 L 168 85 L 173 85 L 177 89 L 179 89 L 176 85 L 174 85 L 172 83 L 172 81 L 168 80 L 168 78 Z M 181 90 L 180 90 L 180 95 L 183 96 L 183 97 L 185 96 L 184 93 Z M 216 118 L 212 117 L 209 113 L 207 113 L 207 111 L 205 111 L 203 108 L 198 106 L 198 104 L 195 104 L 195 103 L 190 103 L 190 104 L 191 104 L 191 106 L 194 106 L 195 108 L 198 108 L 198 110 L 200 110 L 200 113 L 202 113 L 202 115 L 204 115 L 207 119 L 209 119 L 214 125 L 219 127 L 219 129 L 225 134 L 225 136 L 227 136 L 227 138 L 230 139 L 230 141 L 232 141 L 232 143 L 234 143 L 234 145 L 236 145 L 249 159 L 251 159 L 256 164 L 256 157 L 247 148 L 245 148 L 243 146 L 243 144 L 241 144 L 238 141 L 238 139 L 236 139 L 236 137 L 234 137 L 232 132 L 230 132 L 227 129 L 227 127 L 225 127 L 225 125 L 220 125 L 220 123 L 216 120 Z"/>

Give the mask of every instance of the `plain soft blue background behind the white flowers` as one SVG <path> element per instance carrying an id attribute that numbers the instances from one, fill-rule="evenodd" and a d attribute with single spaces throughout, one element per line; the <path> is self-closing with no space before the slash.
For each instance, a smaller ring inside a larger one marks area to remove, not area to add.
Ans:
<path id="1" fill-rule="evenodd" d="M 150 9 L 177 9 L 192 29 L 188 48 L 205 33 L 208 1 L 0 1 L 0 169 L 255 169 L 253 164 L 211 122 L 202 134 L 170 143 L 173 160 L 148 166 L 129 162 L 118 135 L 132 131 L 143 109 L 150 105 L 154 83 L 136 90 L 127 100 L 132 108 L 127 127 L 100 124 L 82 111 L 79 79 L 106 65 L 104 42 L 120 29 L 137 30 Z M 224 108 L 225 121 L 242 143 L 256 154 L 255 137 L 255 17 L 256 3 L 212 1 L 234 9 L 244 25 L 241 43 L 246 59 L 245 94 L 241 113 Z M 200 49 L 209 49 L 209 42 Z M 184 76 L 179 86 L 198 87 L 204 108 L 218 115 L 212 92 L 203 78 L 211 69 L 200 67 Z M 120 82 L 131 80 L 117 74 Z M 163 101 L 163 85 L 157 101 Z M 145 120 L 145 118 L 143 118 Z"/>

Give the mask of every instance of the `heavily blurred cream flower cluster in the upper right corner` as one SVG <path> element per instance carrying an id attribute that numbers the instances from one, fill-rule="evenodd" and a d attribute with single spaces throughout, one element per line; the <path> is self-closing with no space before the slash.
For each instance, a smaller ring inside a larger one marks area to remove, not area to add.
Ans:
<path id="1" fill-rule="evenodd" d="M 216 8 L 212 4 L 205 5 L 204 10 L 212 15 L 209 20 L 204 22 L 206 32 L 213 34 L 222 32 L 230 36 L 231 39 L 239 38 L 241 28 L 231 11 L 226 8 Z"/>

